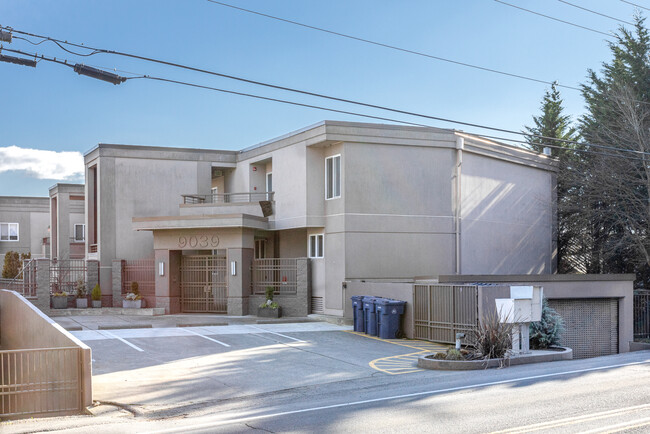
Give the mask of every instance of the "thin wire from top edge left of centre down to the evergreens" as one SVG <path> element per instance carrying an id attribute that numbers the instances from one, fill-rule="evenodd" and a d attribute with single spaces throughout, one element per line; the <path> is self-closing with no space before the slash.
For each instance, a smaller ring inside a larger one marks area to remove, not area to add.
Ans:
<path id="1" fill-rule="evenodd" d="M 334 30 L 326 29 L 326 28 L 323 28 L 323 27 L 316 27 L 316 26 L 312 26 L 312 25 L 309 25 L 309 24 L 300 23 L 298 21 L 293 21 L 293 20 L 289 20 L 289 19 L 286 19 L 286 18 L 265 14 L 265 13 L 258 12 L 258 11 L 252 10 L 252 9 L 245 9 L 245 8 L 242 8 L 242 7 L 239 7 L 239 6 L 231 5 L 231 4 L 228 4 L 228 3 L 223 3 L 223 2 L 220 2 L 220 1 L 216 1 L 216 0 L 207 0 L 207 1 L 209 1 L 210 3 L 220 5 L 220 6 L 225 6 L 227 8 L 235 9 L 235 10 L 238 10 L 238 11 L 241 11 L 241 12 L 246 12 L 246 13 L 249 13 L 249 14 L 259 15 L 259 16 L 262 16 L 262 17 L 265 17 L 265 18 L 270 18 L 272 20 L 282 21 L 284 23 L 293 24 L 293 25 L 296 25 L 296 26 L 304 27 L 304 28 L 311 29 L 311 30 L 316 30 L 316 31 L 323 32 L 323 33 L 329 33 L 330 35 L 340 36 L 342 38 L 352 39 L 354 41 L 364 42 L 366 44 L 371 44 L 371 45 L 376 45 L 376 46 L 383 47 L 383 48 L 388 48 L 390 50 L 401 51 L 403 53 L 414 54 L 416 56 L 421 56 L 421 57 L 426 57 L 426 58 L 429 58 L 429 59 L 439 60 L 441 62 L 452 63 L 454 65 L 465 66 L 465 67 L 468 67 L 468 68 L 478 69 L 480 71 L 492 72 L 492 73 L 495 73 L 495 74 L 501 74 L 501 75 L 505 75 L 507 77 L 513 77 L 513 78 L 519 78 L 519 79 L 522 79 L 522 80 L 533 81 L 533 82 L 536 82 L 536 83 L 549 84 L 549 85 L 554 83 L 552 81 L 542 80 L 542 79 L 539 79 L 539 78 L 529 77 L 529 76 L 521 75 L 521 74 L 515 74 L 515 73 L 512 73 L 512 72 L 501 71 L 501 70 L 498 70 L 498 69 L 487 68 L 487 67 L 484 67 L 484 66 L 474 65 L 474 64 L 471 64 L 471 63 L 461 62 L 461 61 L 458 61 L 458 60 L 452 60 L 452 59 L 448 59 L 448 58 L 445 58 L 445 57 L 435 56 L 433 54 L 423 53 L 421 51 L 415 51 L 415 50 L 410 50 L 408 48 L 398 47 L 396 45 L 390 45 L 390 44 L 385 44 L 383 42 L 372 41 L 370 39 L 360 38 L 360 37 L 357 37 L 357 36 L 352 36 L 352 35 L 348 35 L 348 34 L 345 34 L 345 33 L 336 32 Z M 562 88 L 566 88 L 566 89 L 572 89 L 572 90 L 577 90 L 577 91 L 580 90 L 579 87 L 569 86 L 569 85 L 566 85 L 566 84 L 557 83 L 556 85 L 558 87 L 562 87 Z"/>

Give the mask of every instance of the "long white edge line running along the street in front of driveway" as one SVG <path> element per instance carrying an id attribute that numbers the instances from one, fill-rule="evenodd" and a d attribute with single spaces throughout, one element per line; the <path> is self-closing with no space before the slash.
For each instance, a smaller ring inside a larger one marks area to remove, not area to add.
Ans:
<path id="1" fill-rule="evenodd" d="M 394 396 L 386 396 L 383 398 L 373 398 L 373 399 L 366 399 L 363 401 L 353 401 L 353 402 L 344 402 L 341 404 L 332 404 L 332 405 L 324 405 L 321 407 L 311 407 L 311 408 L 303 408 L 300 410 L 289 410 L 289 411 L 282 411 L 279 413 L 271 413 L 271 414 L 263 414 L 260 416 L 250 416 L 250 417 L 238 417 L 234 419 L 225 419 L 225 420 L 214 420 L 211 422 L 203 422 L 203 423 L 196 423 L 192 424 L 189 419 L 184 419 L 183 420 L 183 427 L 179 428 L 169 428 L 169 429 L 164 429 L 160 431 L 149 431 L 150 434 L 162 434 L 162 433 L 174 433 L 174 432 L 187 432 L 190 429 L 203 429 L 203 428 L 211 428 L 211 427 L 216 427 L 216 426 L 222 426 L 222 425 L 230 425 L 233 423 L 241 423 L 241 422 L 249 422 L 253 420 L 260 420 L 260 419 L 271 419 L 274 417 L 279 417 L 279 416 L 288 416 L 292 414 L 299 414 L 299 413 L 309 413 L 313 411 L 319 411 L 319 410 L 330 410 L 333 408 L 342 408 L 342 407 L 353 407 L 357 405 L 363 405 L 363 404 L 371 404 L 374 402 L 383 402 L 383 401 L 392 401 L 395 399 L 404 399 L 404 398 L 413 398 L 415 396 L 428 396 L 428 395 L 438 395 L 441 393 L 446 393 L 446 392 L 456 392 L 459 390 L 467 390 L 467 389 L 475 389 L 479 387 L 489 387 L 489 386 L 497 386 L 500 384 L 509 384 L 509 383 L 517 383 L 520 381 L 528 381 L 528 380 L 537 380 L 540 378 L 551 378 L 551 377 L 560 377 L 563 375 L 571 375 L 571 374 L 581 374 L 583 372 L 594 372 L 594 371 L 603 371 L 606 369 L 612 369 L 612 368 L 622 368 L 625 366 L 635 366 L 635 365 L 645 365 L 645 364 L 650 364 L 650 359 L 644 360 L 641 362 L 630 362 L 630 363 L 621 363 L 618 365 L 608 365 L 608 366 L 598 366 L 596 368 L 586 368 L 586 369 L 576 369 L 573 371 L 563 371 L 563 372 L 554 372 L 552 374 L 541 374 L 541 375 L 531 375 L 529 377 L 519 377 L 519 378 L 512 378 L 509 380 L 500 380 L 500 381 L 491 381 L 487 383 L 477 383 L 477 384 L 469 384 L 467 386 L 458 386 L 458 387 L 449 387 L 447 389 L 438 389 L 438 390 L 427 390 L 425 392 L 415 392 L 415 393 L 408 393 L 404 395 L 394 395 Z M 218 417 L 218 416 L 217 416 Z"/>

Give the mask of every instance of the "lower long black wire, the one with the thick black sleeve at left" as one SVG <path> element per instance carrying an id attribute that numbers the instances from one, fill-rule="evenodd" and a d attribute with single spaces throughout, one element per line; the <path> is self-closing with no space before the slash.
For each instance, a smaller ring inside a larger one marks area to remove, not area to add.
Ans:
<path id="1" fill-rule="evenodd" d="M 8 48 L 2 48 L 4 51 L 9 51 L 12 53 L 17 53 L 21 54 L 24 56 L 29 56 L 30 58 L 33 57 L 34 59 L 39 59 L 39 60 L 45 60 L 48 62 L 53 62 L 57 63 L 60 65 L 68 66 L 68 67 L 74 67 L 74 64 L 69 63 L 67 60 L 58 60 L 53 57 L 46 57 L 45 55 L 39 55 L 35 53 L 26 53 L 21 50 L 14 50 L 14 49 L 8 49 Z M 406 124 L 406 125 L 411 125 L 411 126 L 417 126 L 417 127 L 425 127 L 425 128 L 438 128 L 434 127 L 432 125 L 427 125 L 427 124 L 422 124 L 422 123 L 416 123 L 416 122 L 409 122 L 409 121 L 404 121 L 400 119 L 394 119 L 394 118 L 388 118 L 388 117 L 382 117 L 382 116 L 374 116 L 374 115 L 369 115 L 365 113 L 359 113 L 359 112 L 353 112 L 353 111 L 348 111 L 348 110 L 339 110 L 339 109 L 333 109 L 329 107 L 323 107 L 323 106 L 318 106 L 318 105 L 313 105 L 313 104 L 305 104 L 305 103 L 299 103 L 295 101 L 289 101 L 289 100 L 283 100 L 279 98 L 271 98 L 271 97 L 266 97 L 262 95 L 256 95 L 256 94 L 251 94 L 251 93 L 244 93 L 244 92 L 237 92 L 237 91 L 232 91 L 228 89 L 221 89 L 221 88 L 216 88 L 212 86 L 206 86 L 206 85 L 201 85 L 201 84 L 196 84 L 196 83 L 189 83 L 186 81 L 180 81 L 180 80 L 173 80 L 173 79 L 168 79 L 164 77 L 156 77 L 156 76 L 150 76 L 150 75 L 139 75 L 136 77 L 125 77 L 126 80 L 133 80 L 133 79 L 146 79 L 146 80 L 153 80 L 153 81 L 159 81 L 159 82 L 164 82 L 164 83 L 170 83 L 170 84 L 177 84 L 177 85 L 182 85 L 182 86 L 187 86 L 187 87 L 193 87 L 193 88 L 198 88 L 198 89 L 204 89 L 204 90 L 211 90 L 215 92 L 221 92 L 221 93 L 226 93 L 226 94 L 231 94 L 231 95 L 237 95 L 237 96 L 244 96 L 248 98 L 255 98 L 255 99 L 260 99 L 264 101 L 271 101 L 271 102 L 278 102 L 282 104 L 289 104 L 289 105 L 294 105 L 294 106 L 299 106 L 299 107 L 305 107 L 305 108 L 311 108 L 311 109 L 316 109 L 316 110 L 323 110 L 323 111 L 328 111 L 328 112 L 333 112 L 333 113 L 340 113 L 340 114 L 347 114 L 347 115 L 352 115 L 352 116 L 358 116 L 358 117 L 363 117 L 363 118 L 368 118 L 368 119 L 374 119 L 374 120 L 382 120 L 382 121 L 388 121 L 388 122 L 395 122 L 395 123 L 400 123 L 400 124 Z M 484 128 L 484 127 L 480 127 Z M 473 132 L 467 132 L 467 131 L 459 131 L 464 134 L 468 135 L 473 135 L 476 137 L 482 137 L 486 139 L 496 139 L 496 140 L 504 140 L 504 141 L 510 141 L 514 143 L 521 143 L 525 145 L 530 145 L 530 143 L 522 141 L 522 140 L 516 140 L 516 139 L 509 139 L 505 137 L 498 137 L 498 136 L 490 136 L 490 135 L 485 135 L 481 133 L 473 133 Z M 539 139 L 544 139 L 544 136 L 536 136 L 533 134 L 525 134 L 519 132 L 518 134 L 523 134 L 529 137 L 534 137 L 534 138 L 539 138 Z M 593 145 L 593 144 L 588 144 L 588 143 L 579 143 L 579 142 L 573 142 L 569 140 L 562 140 L 562 139 L 555 139 L 552 137 L 548 137 L 546 139 L 551 139 L 551 140 L 558 140 L 562 142 L 567 142 L 567 143 L 575 143 L 581 146 L 588 146 L 590 148 L 603 148 L 606 150 L 613 150 L 617 152 L 633 152 L 633 153 L 638 153 L 642 155 L 650 155 L 649 152 L 643 152 L 643 151 L 633 151 L 629 149 L 622 149 L 622 148 L 616 148 L 612 146 L 603 146 L 603 145 Z M 573 151 L 573 152 L 581 152 L 581 153 L 587 153 L 587 154 L 593 154 L 593 155 L 602 155 L 602 156 L 610 156 L 610 157 L 616 157 L 616 158 L 622 158 L 626 160 L 639 160 L 639 161 L 645 161 L 645 158 L 642 157 L 633 157 L 633 156 L 626 156 L 626 155 L 620 155 L 620 154 L 612 154 L 609 152 L 602 152 L 602 151 L 594 151 L 592 149 L 575 149 L 575 148 L 567 148 L 564 146 L 558 146 L 558 145 L 550 145 L 550 144 L 543 144 L 543 146 L 549 147 L 549 148 L 554 148 L 554 149 L 561 149 L 565 151 Z"/>

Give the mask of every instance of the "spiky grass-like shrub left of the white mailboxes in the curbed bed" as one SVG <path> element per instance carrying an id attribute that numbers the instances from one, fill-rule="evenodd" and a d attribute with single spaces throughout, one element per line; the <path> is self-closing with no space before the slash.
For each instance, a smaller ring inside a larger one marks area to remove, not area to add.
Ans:
<path id="1" fill-rule="evenodd" d="M 504 358 L 512 346 L 514 324 L 502 323 L 496 311 L 487 314 L 470 333 L 474 356 L 479 359 Z"/>

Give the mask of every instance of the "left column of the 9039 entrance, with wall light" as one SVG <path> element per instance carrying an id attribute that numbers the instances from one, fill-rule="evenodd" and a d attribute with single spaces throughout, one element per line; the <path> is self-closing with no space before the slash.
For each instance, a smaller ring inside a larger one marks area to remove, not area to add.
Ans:
<path id="1" fill-rule="evenodd" d="M 156 274 L 156 306 L 164 307 L 165 313 L 181 311 L 180 267 L 181 251 L 159 249 L 154 252 Z M 163 275 L 160 275 L 160 263 L 163 263 Z"/>

